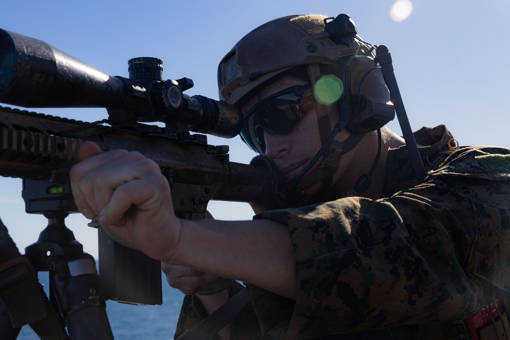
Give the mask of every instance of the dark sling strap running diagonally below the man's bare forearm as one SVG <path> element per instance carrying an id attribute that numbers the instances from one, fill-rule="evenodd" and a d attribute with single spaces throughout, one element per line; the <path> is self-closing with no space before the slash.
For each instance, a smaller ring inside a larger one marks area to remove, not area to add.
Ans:
<path id="1" fill-rule="evenodd" d="M 251 292 L 244 287 L 224 305 L 216 309 L 195 327 L 188 329 L 177 340 L 208 340 L 212 339 L 226 324 L 231 322 L 251 301 Z"/>

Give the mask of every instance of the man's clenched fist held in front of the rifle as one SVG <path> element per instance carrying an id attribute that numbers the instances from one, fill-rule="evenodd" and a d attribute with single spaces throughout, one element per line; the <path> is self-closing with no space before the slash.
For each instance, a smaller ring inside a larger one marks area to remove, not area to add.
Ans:
<path id="1" fill-rule="evenodd" d="M 152 258 L 170 258 L 182 225 L 159 166 L 138 152 L 103 153 L 91 142 L 81 146 L 80 161 L 70 172 L 80 212 L 89 219 L 97 217 L 122 245 Z"/>

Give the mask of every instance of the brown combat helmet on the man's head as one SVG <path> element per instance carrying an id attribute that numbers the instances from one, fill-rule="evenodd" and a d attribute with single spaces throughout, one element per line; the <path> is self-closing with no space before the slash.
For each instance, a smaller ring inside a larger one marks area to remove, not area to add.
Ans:
<path id="1" fill-rule="evenodd" d="M 247 94 L 299 65 L 332 64 L 339 58 L 369 54 L 356 37 L 337 44 L 324 31 L 324 15 L 293 15 L 269 21 L 244 36 L 218 66 L 220 100 L 239 104 Z"/>

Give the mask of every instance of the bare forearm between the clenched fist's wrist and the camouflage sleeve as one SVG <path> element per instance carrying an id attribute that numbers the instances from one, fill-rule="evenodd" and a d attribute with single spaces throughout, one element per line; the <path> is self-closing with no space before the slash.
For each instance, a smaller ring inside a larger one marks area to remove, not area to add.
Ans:
<path id="1" fill-rule="evenodd" d="M 295 297 L 295 259 L 286 226 L 270 220 L 186 220 L 181 232 L 173 258 L 162 260 Z"/>

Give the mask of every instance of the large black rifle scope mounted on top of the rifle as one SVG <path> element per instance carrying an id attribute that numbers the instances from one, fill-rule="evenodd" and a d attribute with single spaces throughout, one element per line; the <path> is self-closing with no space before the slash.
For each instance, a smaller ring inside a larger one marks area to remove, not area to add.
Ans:
<path id="1" fill-rule="evenodd" d="M 205 96 L 188 96 L 187 78 L 163 80 L 162 61 L 134 58 L 129 79 L 110 76 L 63 51 L 0 30 L 0 102 L 25 108 L 106 108 L 113 123 L 164 122 L 193 132 L 236 136 L 243 115 Z"/>

